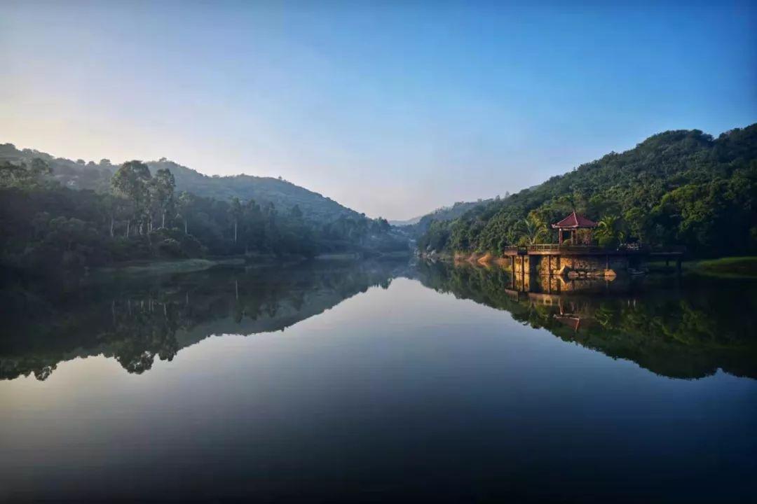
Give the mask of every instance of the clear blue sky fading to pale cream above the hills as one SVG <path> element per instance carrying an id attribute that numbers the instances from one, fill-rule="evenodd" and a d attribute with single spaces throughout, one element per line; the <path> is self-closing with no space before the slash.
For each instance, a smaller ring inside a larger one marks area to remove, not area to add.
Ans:
<path id="1" fill-rule="evenodd" d="M 757 122 L 757 3 L 2 0 L 0 69 L 0 143 L 403 219 Z"/>

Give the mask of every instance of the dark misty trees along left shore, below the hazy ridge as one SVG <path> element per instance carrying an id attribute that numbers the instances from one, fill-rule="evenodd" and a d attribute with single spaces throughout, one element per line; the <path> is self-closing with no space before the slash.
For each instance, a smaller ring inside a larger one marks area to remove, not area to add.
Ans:
<path id="1" fill-rule="evenodd" d="M 313 218 L 295 204 L 176 190 L 167 168 L 130 161 L 107 190 L 72 189 L 41 158 L 0 161 L 0 264 L 10 271 L 83 271 L 153 258 L 381 253 L 407 250 L 385 219 Z"/>

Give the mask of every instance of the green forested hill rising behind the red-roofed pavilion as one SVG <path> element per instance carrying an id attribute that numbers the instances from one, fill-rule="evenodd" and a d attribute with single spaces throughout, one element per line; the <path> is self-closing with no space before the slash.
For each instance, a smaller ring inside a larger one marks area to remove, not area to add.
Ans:
<path id="1" fill-rule="evenodd" d="M 757 124 L 712 138 L 665 131 L 523 190 L 435 221 L 425 251 L 493 252 L 553 243 L 549 227 L 573 210 L 600 222 L 600 245 L 684 245 L 690 255 L 757 253 Z"/>

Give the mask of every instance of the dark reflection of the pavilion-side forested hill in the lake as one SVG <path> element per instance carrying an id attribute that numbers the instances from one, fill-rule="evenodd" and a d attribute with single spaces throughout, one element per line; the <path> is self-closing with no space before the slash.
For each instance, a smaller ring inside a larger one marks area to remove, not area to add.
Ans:
<path id="1" fill-rule="evenodd" d="M 757 286 L 689 277 L 678 289 L 646 280 L 608 287 L 587 281 L 584 291 L 550 295 L 544 280 L 512 289 L 509 273 L 468 265 L 419 265 L 432 289 L 509 311 L 515 320 L 545 328 L 610 357 L 633 360 L 654 373 L 699 378 L 718 368 L 757 378 Z M 588 292 L 588 294 L 584 293 Z"/>

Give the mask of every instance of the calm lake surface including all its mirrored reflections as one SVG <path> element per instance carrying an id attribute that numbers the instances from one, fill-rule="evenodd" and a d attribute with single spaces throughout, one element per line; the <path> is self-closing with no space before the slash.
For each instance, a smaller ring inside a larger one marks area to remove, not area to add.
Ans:
<path id="1" fill-rule="evenodd" d="M 2 500 L 755 500 L 754 282 L 366 262 L 2 306 Z"/>

